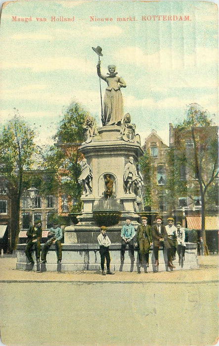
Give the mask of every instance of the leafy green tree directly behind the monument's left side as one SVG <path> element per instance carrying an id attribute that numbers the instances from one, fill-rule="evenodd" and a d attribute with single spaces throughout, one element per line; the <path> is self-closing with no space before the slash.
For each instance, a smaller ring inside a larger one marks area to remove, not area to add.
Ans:
<path id="1" fill-rule="evenodd" d="M 59 129 L 54 139 L 55 144 L 44 156 L 42 168 L 50 173 L 51 183 L 59 195 L 65 194 L 70 202 L 73 201 L 70 212 L 81 211 L 82 188 L 78 182 L 81 174 L 79 162 L 83 155 L 79 146 L 84 141 L 84 124 L 89 116 L 82 105 L 72 103 L 64 112 Z"/>

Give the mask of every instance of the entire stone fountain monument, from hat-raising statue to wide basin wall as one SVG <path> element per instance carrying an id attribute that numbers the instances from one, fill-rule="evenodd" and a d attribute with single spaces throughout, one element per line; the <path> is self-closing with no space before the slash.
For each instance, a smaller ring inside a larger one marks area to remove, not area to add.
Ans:
<path id="1" fill-rule="evenodd" d="M 98 58 L 102 56 L 101 47 L 92 49 Z M 83 187 L 81 201 L 82 213 L 77 216 L 78 223 L 65 227 L 62 246 L 62 263 L 56 264 L 55 247 L 47 255 L 46 265 L 37 263 L 33 268 L 26 264 L 25 244 L 17 246 L 17 269 L 27 270 L 98 270 L 100 269 L 99 246 L 97 236 L 99 227 L 107 226 L 111 240 L 111 269 L 119 271 L 138 271 L 138 257 L 135 262 L 127 255 L 121 262 L 121 228 L 127 216 L 134 226 L 138 225 L 139 215 L 144 211 L 142 190 L 143 177 L 139 170 L 138 160 L 143 155 L 140 137 L 135 134 L 135 125 L 131 115 L 123 114 L 123 96 L 121 88 L 126 87 L 122 77 L 117 76 L 116 66 L 108 66 L 109 73 L 103 75 L 100 69 L 100 58 L 97 63 L 99 82 L 107 83 L 102 104 L 101 83 L 101 121 L 102 127 L 96 131 L 93 121 L 85 121 L 85 140 L 79 148 L 84 155 L 80 162 L 81 175 L 79 182 Z M 136 227 L 135 227 L 136 228 Z M 197 268 L 196 245 L 186 245 L 183 265 L 175 264 L 176 269 Z M 165 252 L 160 251 L 159 270 L 168 270 Z M 151 257 L 151 256 L 150 256 Z M 153 256 L 149 260 L 147 271 L 154 270 Z"/>

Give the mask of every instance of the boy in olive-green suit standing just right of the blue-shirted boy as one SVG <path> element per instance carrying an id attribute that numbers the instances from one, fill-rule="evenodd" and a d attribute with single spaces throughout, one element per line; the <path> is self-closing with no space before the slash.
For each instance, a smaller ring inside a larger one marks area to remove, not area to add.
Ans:
<path id="1" fill-rule="evenodd" d="M 136 241 L 139 247 L 139 267 L 142 266 L 142 259 L 145 256 L 146 267 L 149 266 L 149 252 L 152 243 L 151 226 L 147 225 L 147 217 L 141 217 L 141 225 L 137 226 Z"/>

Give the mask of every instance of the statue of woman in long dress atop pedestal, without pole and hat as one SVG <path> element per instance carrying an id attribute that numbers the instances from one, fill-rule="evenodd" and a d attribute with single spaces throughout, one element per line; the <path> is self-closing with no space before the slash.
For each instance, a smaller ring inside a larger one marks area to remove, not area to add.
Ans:
<path id="1" fill-rule="evenodd" d="M 104 96 L 103 125 L 121 126 L 123 119 L 123 96 L 120 88 L 126 87 L 126 83 L 122 77 L 117 76 L 115 65 L 108 66 L 108 76 L 101 74 L 100 61 L 98 61 L 96 67 L 99 78 L 107 83 Z"/>

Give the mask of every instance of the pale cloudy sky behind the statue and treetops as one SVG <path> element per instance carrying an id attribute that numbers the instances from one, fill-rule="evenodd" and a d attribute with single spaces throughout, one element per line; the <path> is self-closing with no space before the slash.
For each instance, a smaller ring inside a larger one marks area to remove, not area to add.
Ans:
<path id="1" fill-rule="evenodd" d="M 189 21 L 142 21 L 142 16 L 189 16 Z M 17 18 L 32 17 L 27 23 Z M 51 22 L 51 16 L 75 17 Z M 112 17 L 112 22 L 90 22 Z M 137 21 L 118 22 L 117 17 Z M 45 17 L 46 22 L 37 22 Z M 0 24 L 1 122 L 19 109 L 51 142 L 63 108 L 78 101 L 100 125 L 98 56 L 103 74 L 117 66 L 127 83 L 124 113 L 141 142 L 152 129 L 167 143 L 169 123 L 181 121 L 197 102 L 218 114 L 218 8 L 205 1 L 17 1 L 2 10 Z M 106 84 L 102 82 L 104 96 Z M 216 117 L 217 119 L 217 117 Z"/>

